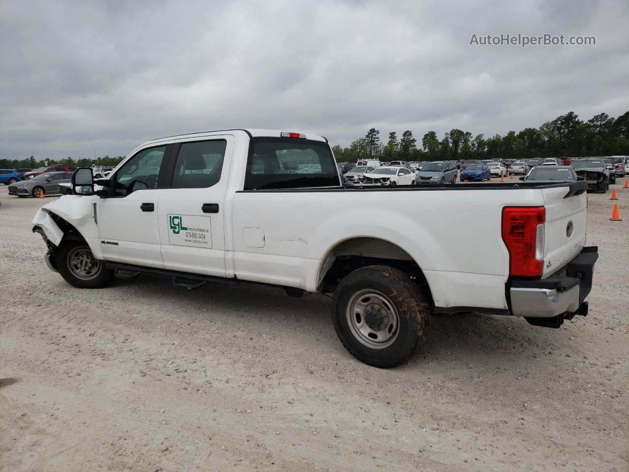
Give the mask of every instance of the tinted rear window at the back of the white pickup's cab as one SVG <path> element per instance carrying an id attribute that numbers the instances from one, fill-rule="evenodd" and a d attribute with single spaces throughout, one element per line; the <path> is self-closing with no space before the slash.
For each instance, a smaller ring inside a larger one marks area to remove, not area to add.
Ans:
<path id="1" fill-rule="evenodd" d="M 252 138 L 245 190 L 340 186 L 330 146 L 302 138 Z"/>

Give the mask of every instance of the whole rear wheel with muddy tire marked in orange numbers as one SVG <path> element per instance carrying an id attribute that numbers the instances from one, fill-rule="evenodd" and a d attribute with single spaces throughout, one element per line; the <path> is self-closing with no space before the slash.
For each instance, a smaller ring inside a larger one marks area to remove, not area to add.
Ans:
<path id="1" fill-rule="evenodd" d="M 332 321 L 352 356 L 389 368 L 423 347 L 430 307 L 407 274 L 389 266 L 367 266 L 338 284 Z"/>

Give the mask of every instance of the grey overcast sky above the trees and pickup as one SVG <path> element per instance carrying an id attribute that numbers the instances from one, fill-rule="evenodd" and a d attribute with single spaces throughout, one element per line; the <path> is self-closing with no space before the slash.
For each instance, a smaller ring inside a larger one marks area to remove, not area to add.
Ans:
<path id="1" fill-rule="evenodd" d="M 629 110 L 629 2 L 0 3 L 0 158 L 126 155 L 258 127 L 343 146 L 378 128 L 476 135 Z M 470 45 L 472 34 L 594 46 Z"/>

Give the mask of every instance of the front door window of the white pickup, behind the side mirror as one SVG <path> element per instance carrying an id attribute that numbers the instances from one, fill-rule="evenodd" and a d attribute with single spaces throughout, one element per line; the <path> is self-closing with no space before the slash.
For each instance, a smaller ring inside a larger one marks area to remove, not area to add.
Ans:
<path id="1" fill-rule="evenodd" d="M 165 150 L 165 146 L 143 149 L 125 162 L 116 172 L 114 196 L 127 196 L 136 190 L 157 188 Z"/>

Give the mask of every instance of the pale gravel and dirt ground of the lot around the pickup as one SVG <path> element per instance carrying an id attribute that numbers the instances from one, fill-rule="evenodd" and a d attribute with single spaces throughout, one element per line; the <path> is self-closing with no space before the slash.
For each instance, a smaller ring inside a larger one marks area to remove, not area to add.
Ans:
<path id="1" fill-rule="evenodd" d="M 495 179 L 494 179 L 495 180 Z M 589 194 L 590 315 L 561 329 L 433 317 L 425 352 L 371 368 L 325 296 L 72 288 L 0 186 L 0 470 L 627 471 L 629 189 Z"/>

